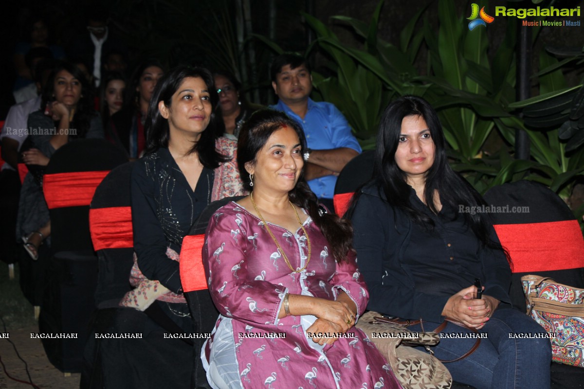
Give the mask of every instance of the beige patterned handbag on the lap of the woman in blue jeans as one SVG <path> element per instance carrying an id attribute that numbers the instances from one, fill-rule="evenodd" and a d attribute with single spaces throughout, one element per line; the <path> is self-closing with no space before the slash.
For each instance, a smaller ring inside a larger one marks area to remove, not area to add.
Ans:
<path id="1" fill-rule="evenodd" d="M 440 341 L 433 332 L 419 332 L 416 338 L 407 328 L 391 323 L 378 323 L 375 317 L 381 314 L 373 311 L 359 318 L 360 328 L 376 345 L 390 364 L 391 370 L 404 389 L 447 389 L 452 385 L 452 376 L 436 357 L 408 346 L 435 345 Z M 380 338 L 378 334 L 394 334 L 398 337 Z M 404 337 L 399 337 L 404 334 Z M 408 336 L 408 337 L 406 337 Z"/>

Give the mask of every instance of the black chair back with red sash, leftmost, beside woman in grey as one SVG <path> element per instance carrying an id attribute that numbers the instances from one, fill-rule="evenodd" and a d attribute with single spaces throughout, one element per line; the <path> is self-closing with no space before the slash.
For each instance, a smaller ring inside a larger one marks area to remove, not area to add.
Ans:
<path id="1" fill-rule="evenodd" d="M 126 162 L 124 153 L 104 139 L 79 139 L 53 154 L 43 177 L 43 193 L 55 253 L 93 250 L 89 203 L 107 173 Z"/>

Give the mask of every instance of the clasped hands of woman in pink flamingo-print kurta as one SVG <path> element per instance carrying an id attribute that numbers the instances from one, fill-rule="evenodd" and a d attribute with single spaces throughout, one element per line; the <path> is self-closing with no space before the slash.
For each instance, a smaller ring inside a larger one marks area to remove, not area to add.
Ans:
<path id="1" fill-rule="evenodd" d="M 355 324 L 355 314 L 349 308 L 349 304 L 340 301 L 324 300 L 319 304 L 317 317 L 307 332 L 332 332 L 345 334 Z M 332 345 L 338 338 L 312 338 L 312 341 L 319 345 Z"/>

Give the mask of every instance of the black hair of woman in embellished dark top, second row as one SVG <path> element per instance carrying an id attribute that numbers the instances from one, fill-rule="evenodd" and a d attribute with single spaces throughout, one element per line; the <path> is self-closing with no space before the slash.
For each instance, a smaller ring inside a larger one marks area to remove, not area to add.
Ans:
<path id="1" fill-rule="evenodd" d="M 186 78 L 200 78 L 207 86 L 211 98 L 211 118 L 207 128 L 201 134 L 199 141 L 193 144 L 189 153 L 198 153 L 199 160 L 203 166 L 210 169 L 215 169 L 220 162 L 227 161 L 227 157 L 221 155 L 215 149 L 215 114 L 213 108 L 217 105 L 217 93 L 213 93 L 213 76 L 205 68 L 193 68 L 190 66 L 179 66 L 173 69 L 170 73 L 158 80 L 152 99 L 148 104 L 148 115 L 146 123 L 144 124 L 144 131 L 146 132 L 146 153 L 150 154 L 159 148 L 168 147 L 168 139 L 170 137 L 170 128 L 168 120 L 165 119 L 158 110 L 158 103 L 164 101 L 164 105 L 168 108 L 172 107 L 172 96 L 179 89 L 183 80 Z"/>

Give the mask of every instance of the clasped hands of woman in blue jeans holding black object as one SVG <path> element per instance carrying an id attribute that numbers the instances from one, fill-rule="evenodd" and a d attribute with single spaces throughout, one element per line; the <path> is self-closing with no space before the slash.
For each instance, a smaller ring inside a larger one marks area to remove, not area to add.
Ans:
<path id="1" fill-rule="evenodd" d="M 483 287 L 483 289 L 485 289 Z M 477 299 L 477 287 L 470 286 L 451 296 L 442 310 L 442 316 L 458 320 L 467 327 L 480 330 L 499 305 L 495 297 L 482 295 Z"/>

